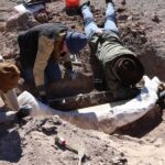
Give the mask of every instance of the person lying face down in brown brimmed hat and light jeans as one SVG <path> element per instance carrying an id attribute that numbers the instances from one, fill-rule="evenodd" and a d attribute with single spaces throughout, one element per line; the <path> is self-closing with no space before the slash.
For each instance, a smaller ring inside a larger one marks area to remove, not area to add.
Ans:
<path id="1" fill-rule="evenodd" d="M 132 98 L 138 94 L 134 86 L 142 79 L 144 67 L 136 55 L 123 46 L 116 21 L 112 0 L 106 0 L 106 21 L 98 28 L 90 10 L 90 2 L 80 6 L 85 32 L 89 40 L 90 54 L 103 68 L 108 89 L 116 99 Z"/>

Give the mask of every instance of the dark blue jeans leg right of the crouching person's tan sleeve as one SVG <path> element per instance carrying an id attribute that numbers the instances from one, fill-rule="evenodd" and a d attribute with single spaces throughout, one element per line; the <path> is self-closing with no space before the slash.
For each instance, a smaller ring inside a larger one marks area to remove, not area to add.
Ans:
<path id="1" fill-rule="evenodd" d="M 52 58 L 50 58 L 47 66 L 45 68 L 45 87 L 61 79 L 62 79 L 62 72 L 58 63 L 55 63 Z"/>

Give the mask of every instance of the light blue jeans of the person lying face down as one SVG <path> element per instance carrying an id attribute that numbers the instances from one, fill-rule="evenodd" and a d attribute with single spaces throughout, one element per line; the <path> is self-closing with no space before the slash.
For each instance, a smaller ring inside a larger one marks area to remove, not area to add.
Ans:
<path id="1" fill-rule="evenodd" d="M 94 15 L 90 11 L 90 7 L 84 6 L 81 9 L 81 13 L 84 18 L 85 32 L 88 38 L 90 38 L 92 34 L 97 33 L 99 30 L 102 30 L 103 32 L 113 31 L 116 34 L 119 34 L 119 30 L 116 24 L 116 10 L 112 3 L 107 4 L 106 22 L 103 29 L 99 29 L 97 26 Z"/>

